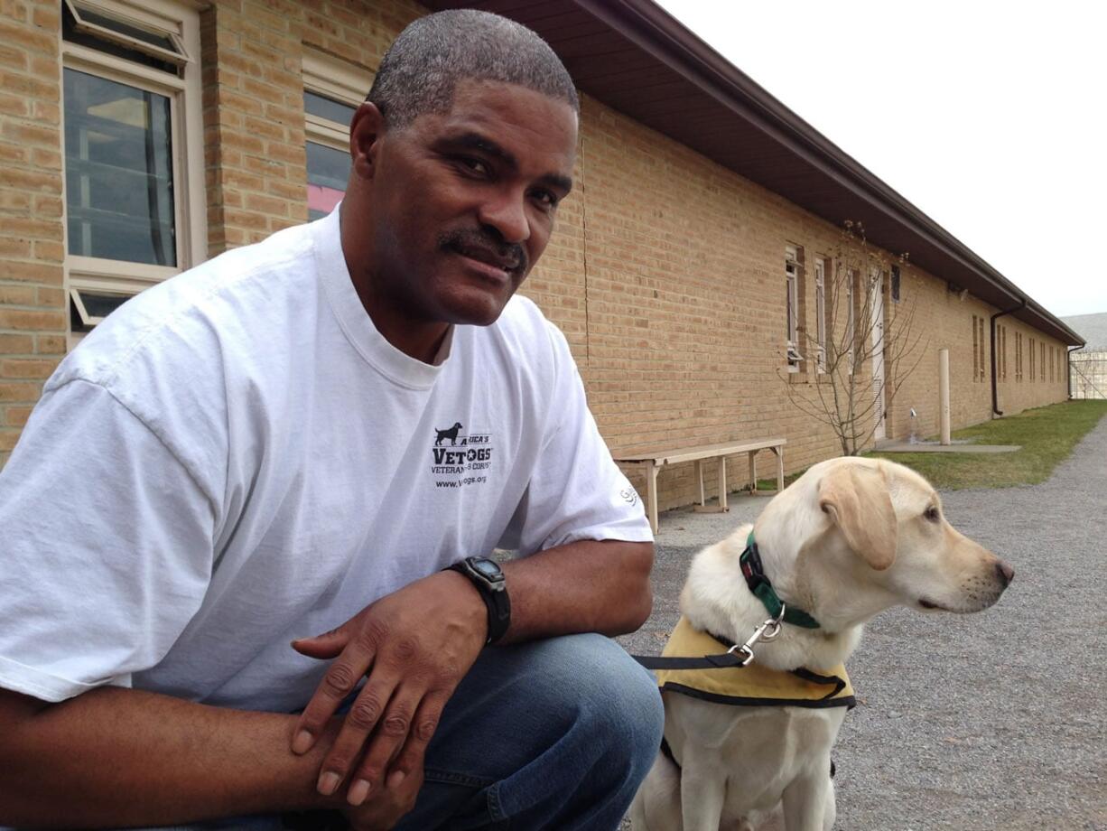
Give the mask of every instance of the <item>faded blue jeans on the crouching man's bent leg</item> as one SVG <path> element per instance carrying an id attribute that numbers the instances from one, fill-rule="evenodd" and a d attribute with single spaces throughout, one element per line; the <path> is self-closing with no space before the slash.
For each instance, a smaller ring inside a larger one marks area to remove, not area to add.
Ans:
<path id="1" fill-rule="evenodd" d="M 653 676 L 601 635 L 485 649 L 443 710 L 423 789 L 397 831 L 617 829 L 658 755 L 662 722 Z"/>

